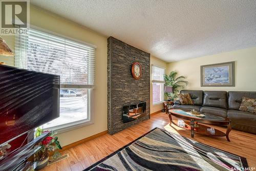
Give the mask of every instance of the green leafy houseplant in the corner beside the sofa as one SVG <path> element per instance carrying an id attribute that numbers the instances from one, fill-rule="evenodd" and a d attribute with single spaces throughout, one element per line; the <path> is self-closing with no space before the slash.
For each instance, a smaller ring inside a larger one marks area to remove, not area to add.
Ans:
<path id="1" fill-rule="evenodd" d="M 172 86 L 173 87 L 173 93 L 166 93 L 168 97 L 170 97 L 171 101 L 174 101 L 175 98 L 177 98 L 177 94 L 179 93 L 180 89 L 184 89 L 184 86 L 187 86 L 188 81 L 185 81 L 184 79 L 186 77 L 179 76 L 177 77 L 176 71 L 171 71 L 169 75 L 164 75 L 164 86 Z"/>

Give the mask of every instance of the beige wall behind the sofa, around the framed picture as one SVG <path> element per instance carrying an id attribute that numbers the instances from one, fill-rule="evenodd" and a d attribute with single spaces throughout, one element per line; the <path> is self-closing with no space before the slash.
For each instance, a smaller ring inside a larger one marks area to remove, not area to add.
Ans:
<path id="1" fill-rule="evenodd" d="M 235 62 L 235 87 L 201 87 L 200 66 L 229 61 Z M 256 91 L 256 47 L 168 63 L 167 72 L 173 70 L 187 77 L 185 89 Z"/>

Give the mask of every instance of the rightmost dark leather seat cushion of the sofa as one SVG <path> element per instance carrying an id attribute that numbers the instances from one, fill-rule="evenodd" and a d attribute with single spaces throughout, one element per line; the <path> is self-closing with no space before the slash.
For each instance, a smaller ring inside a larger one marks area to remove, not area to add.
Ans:
<path id="1" fill-rule="evenodd" d="M 228 110 L 227 117 L 231 119 L 231 123 L 233 122 L 232 124 L 238 123 L 238 124 L 256 127 L 255 114 L 238 111 L 238 110 Z"/>

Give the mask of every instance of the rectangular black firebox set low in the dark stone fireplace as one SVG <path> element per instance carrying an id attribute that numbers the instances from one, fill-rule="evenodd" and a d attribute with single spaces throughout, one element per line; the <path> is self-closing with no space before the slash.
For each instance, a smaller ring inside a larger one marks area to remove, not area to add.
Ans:
<path id="1" fill-rule="evenodd" d="M 142 117 L 145 114 L 146 102 L 123 106 L 122 118 L 123 123 L 131 122 Z"/>

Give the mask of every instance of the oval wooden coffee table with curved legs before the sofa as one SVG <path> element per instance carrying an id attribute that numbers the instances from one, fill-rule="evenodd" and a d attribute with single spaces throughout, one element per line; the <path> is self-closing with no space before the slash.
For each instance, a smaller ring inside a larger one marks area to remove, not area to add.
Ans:
<path id="1" fill-rule="evenodd" d="M 168 111 L 169 119 L 170 119 L 170 125 L 172 123 L 179 126 L 177 123 L 175 123 L 172 120 L 172 115 L 176 116 L 178 118 L 182 118 L 188 121 L 184 121 L 185 126 L 182 127 L 185 130 L 190 130 L 190 135 L 192 138 L 194 138 L 195 132 L 203 135 L 208 136 L 217 136 L 217 137 L 224 137 L 226 136 L 227 140 L 229 140 L 228 135 L 231 131 L 230 122 L 231 120 L 229 118 L 223 118 L 216 115 L 206 114 L 206 113 L 200 113 L 200 116 L 191 114 L 189 111 L 182 111 L 180 109 L 171 109 Z M 198 123 L 206 123 L 206 124 L 214 124 L 214 125 L 227 125 L 226 133 L 223 133 L 220 130 L 214 129 L 215 132 L 209 132 L 207 129 L 210 129 L 210 126 L 198 124 Z M 179 126 L 181 127 L 181 126 Z"/>

